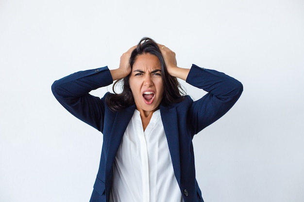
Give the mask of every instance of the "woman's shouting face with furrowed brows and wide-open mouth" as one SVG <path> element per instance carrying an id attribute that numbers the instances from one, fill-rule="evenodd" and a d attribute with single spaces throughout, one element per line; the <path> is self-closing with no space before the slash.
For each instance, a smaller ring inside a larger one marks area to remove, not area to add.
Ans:
<path id="1" fill-rule="evenodd" d="M 155 55 L 147 53 L 136 57 L 129 83 L 137 110 L 147 114 L 158 109 L 164 86 L 161 64 Z"/>

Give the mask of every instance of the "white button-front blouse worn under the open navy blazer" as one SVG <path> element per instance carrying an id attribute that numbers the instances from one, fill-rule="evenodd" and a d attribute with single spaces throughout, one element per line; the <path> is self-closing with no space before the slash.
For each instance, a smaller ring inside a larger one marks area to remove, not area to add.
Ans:
<path id="1" fill-rule="evenodd" d="M 159 109 L 145 131 L 135 109 L 113 164 L 110 202 L 184 202 Z"/>

